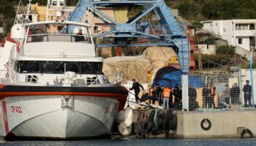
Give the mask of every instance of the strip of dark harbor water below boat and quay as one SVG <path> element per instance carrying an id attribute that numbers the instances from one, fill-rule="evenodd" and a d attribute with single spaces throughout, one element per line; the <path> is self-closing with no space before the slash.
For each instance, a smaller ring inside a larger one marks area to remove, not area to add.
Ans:
<path id="1" fill-rule="evenodd" d="M 0 145 L 189 145 L 240 146 L 256 145 L 256 139 L 90 139 L 79 141 L 0 141 Z"/>

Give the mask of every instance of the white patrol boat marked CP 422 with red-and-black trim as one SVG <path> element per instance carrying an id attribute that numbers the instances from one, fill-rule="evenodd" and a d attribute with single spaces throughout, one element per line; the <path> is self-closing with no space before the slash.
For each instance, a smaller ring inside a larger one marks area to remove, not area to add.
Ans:
<path id="1" fill-rule="evenodd" d="M 88 24 L 16 23 L 10 39 L 1 47 L 1 137 L 110 134 L 128 91 L 105 82 Z"/>

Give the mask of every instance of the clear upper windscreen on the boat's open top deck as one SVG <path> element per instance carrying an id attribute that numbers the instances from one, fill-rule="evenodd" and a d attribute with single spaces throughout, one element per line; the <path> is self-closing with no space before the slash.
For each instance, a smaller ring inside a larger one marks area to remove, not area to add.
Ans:
<path id="1" fill-rule="evenodd" d="M 91 44 L 89 28 L 67 24 L 39 24 L 29 26 L 30 42 L 81 42 Z"/>

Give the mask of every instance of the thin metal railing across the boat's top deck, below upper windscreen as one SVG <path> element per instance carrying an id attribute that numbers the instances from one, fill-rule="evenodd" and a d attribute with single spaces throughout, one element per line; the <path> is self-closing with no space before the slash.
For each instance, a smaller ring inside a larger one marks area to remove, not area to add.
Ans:
<path id="1" fill-rule="evenodd" d="M 80 34 L 31 34 L 26 43 L 31 42 L 81 42 L 91 44 L 89 35 Z"/>

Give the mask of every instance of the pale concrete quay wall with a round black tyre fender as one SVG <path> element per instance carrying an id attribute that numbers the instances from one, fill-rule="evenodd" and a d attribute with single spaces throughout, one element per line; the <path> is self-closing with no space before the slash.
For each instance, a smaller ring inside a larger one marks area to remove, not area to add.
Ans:
<path id="1" fill-rule="evenodd" d="M 256 110 L 177 112 L 176 138 L 242 138 L 256 136 Z M 204 120 L 208 119 L 208 121 Z M 205 129 L 203 129 L 203 128 Z M 250 132 L 251 131 L 251 136 Z"/>

